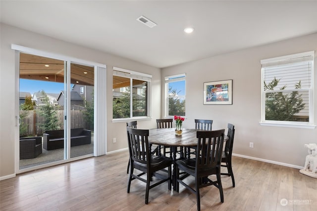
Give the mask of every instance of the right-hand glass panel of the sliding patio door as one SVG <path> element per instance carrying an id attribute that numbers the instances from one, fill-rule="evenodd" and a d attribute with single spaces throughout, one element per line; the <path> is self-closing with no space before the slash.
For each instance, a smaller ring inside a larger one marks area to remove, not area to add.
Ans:
<path id="1" fill-rule="evenodd" d="M 94 67 L 70 64 L 70 157 L 94 152 Z"/>

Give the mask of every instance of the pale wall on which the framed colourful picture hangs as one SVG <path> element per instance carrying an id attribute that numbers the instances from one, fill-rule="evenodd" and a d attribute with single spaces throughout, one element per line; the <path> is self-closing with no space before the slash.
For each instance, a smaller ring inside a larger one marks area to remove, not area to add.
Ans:
<path id="1" fill-rule="evenodd" d="M 233 153 L 288 166 L 302 167 L 306 143 L 317 143 L 317 129 L 260 126 L 261 59 L 315 50 L 315 108 L 317 108 L 317 34 L 249 48 L 162 69 L 165 76 L 186 73 L 186 120 L 213 120 L 212 128 L 235 125 Z M 203 105 L 203 83 L 233 80 L 233 105 Z M 162 83 L 164 81 L 162 80 Z M 163 86 L 162 86 L 163 91 Z M 163 106 L 162 98 L 162 106 Z M 161 111 L 163 115 L 163 110 Z M 315 109 L 317 124 L 317 109 Z M 254 148 L 249 148 L 254 142 Z"/>

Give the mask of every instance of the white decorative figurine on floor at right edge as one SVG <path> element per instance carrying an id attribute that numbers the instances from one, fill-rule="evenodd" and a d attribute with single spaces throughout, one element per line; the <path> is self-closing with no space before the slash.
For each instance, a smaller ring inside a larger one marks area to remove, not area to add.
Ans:
<path id="1" fill-rule="evenodd" d="M 317 178 L 317 144 L 305 144 L 309 155 L 306 156 L 304 169 L 299 172 Z"/>

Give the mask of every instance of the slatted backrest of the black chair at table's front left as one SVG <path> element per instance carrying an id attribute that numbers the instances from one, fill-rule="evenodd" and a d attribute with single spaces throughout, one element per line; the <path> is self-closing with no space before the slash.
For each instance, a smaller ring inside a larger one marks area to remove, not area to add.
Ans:
<path id="1" fill-rule="evenodd" d="M 149 130 L 127 126 L 130 160 L 150 165 Z"/>

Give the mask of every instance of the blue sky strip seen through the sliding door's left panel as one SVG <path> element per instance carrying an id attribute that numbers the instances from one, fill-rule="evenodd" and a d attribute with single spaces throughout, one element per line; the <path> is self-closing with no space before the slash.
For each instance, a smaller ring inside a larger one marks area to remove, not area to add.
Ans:
<path id="1" fill-rule="evenodd" d="M 20 79 L 20 91 L 30 92 L 31 95 L 34 92 L 44 90 L 46 93 L 60 93 L 64 90 L 64 84 L 58 82 L 45 82 L 38 80 Z"/>

